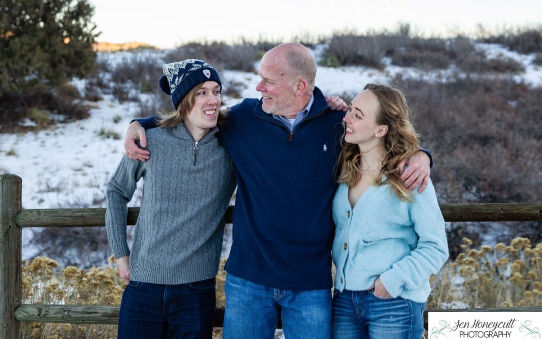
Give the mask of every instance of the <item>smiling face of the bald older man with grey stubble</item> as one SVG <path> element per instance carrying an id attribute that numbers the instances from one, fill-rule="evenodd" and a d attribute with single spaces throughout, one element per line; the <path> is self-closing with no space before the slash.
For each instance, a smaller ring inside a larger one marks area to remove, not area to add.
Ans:
<path id="1" fill-rule="evenodd" d="M 286 59 L 278 53 L 268 52 L 260 66 L 260 83 L 256 91 L 263 97 L 263 111 L 279 116 L 297 113 L 295 90 L 286 70 Z"/>

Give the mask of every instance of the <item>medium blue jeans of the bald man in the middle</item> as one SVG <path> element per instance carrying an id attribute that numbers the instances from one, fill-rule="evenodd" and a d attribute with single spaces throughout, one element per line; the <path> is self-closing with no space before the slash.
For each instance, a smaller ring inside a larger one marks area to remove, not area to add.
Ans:
<path id="1" fill-rule="evenodd" d="M 226 276 L 224 339 L 273 339 L 280 312 L 288 339 L 331 337 L 331 291 L 288 291 Z"/>

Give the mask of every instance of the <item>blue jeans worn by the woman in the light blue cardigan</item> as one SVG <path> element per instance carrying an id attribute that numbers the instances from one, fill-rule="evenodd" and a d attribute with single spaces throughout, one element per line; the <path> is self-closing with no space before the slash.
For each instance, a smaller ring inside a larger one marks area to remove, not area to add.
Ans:
<path id="1" fill-rule="evenodd" d="M 335 290 L 334 339 L 419 339 L 423 333 L 425 303 L 401 297 L 379 298 L 372 290 Z"/>

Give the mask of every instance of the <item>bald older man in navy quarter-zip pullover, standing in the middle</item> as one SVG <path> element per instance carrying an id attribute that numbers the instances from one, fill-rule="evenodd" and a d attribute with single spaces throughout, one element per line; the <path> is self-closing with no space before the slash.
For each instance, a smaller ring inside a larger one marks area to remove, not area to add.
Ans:
<path id="1" fill-rule="evenodd" d="M 225 339 L 272 339 L 279 314 L 288 339 L 331 337 L 333 168 L 344 112 L 330 110 L 315 75 L 314 57 L 301 44 L 269 50 L 256 87 L 262 98 L 231 107 L 218 135 L 238 182 Z M 152 120 L 139 121 L 151 127 Z M 136 136 L 144 131 L 132 123 L 127 152 L 145 159 Z M 423 189 L 428 176 L 429 158 L 418 152 L 405 183 L 423 182 Z"/>

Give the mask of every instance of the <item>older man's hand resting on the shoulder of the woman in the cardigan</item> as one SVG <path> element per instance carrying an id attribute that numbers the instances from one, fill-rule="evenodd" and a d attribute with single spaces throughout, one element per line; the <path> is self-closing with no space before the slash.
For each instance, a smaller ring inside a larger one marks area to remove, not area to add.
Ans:
<path id="1" fill-rule="evenodd" d="M 408 168 L 405 170 L 405 165 Z M 412 157 L 399 163 L 399 172 L 406 188 L 413 191 L 417 187 L 418 193 L 422 193 L 429 183 L 429 157 L 424 151 L 417 151 Z"/>

